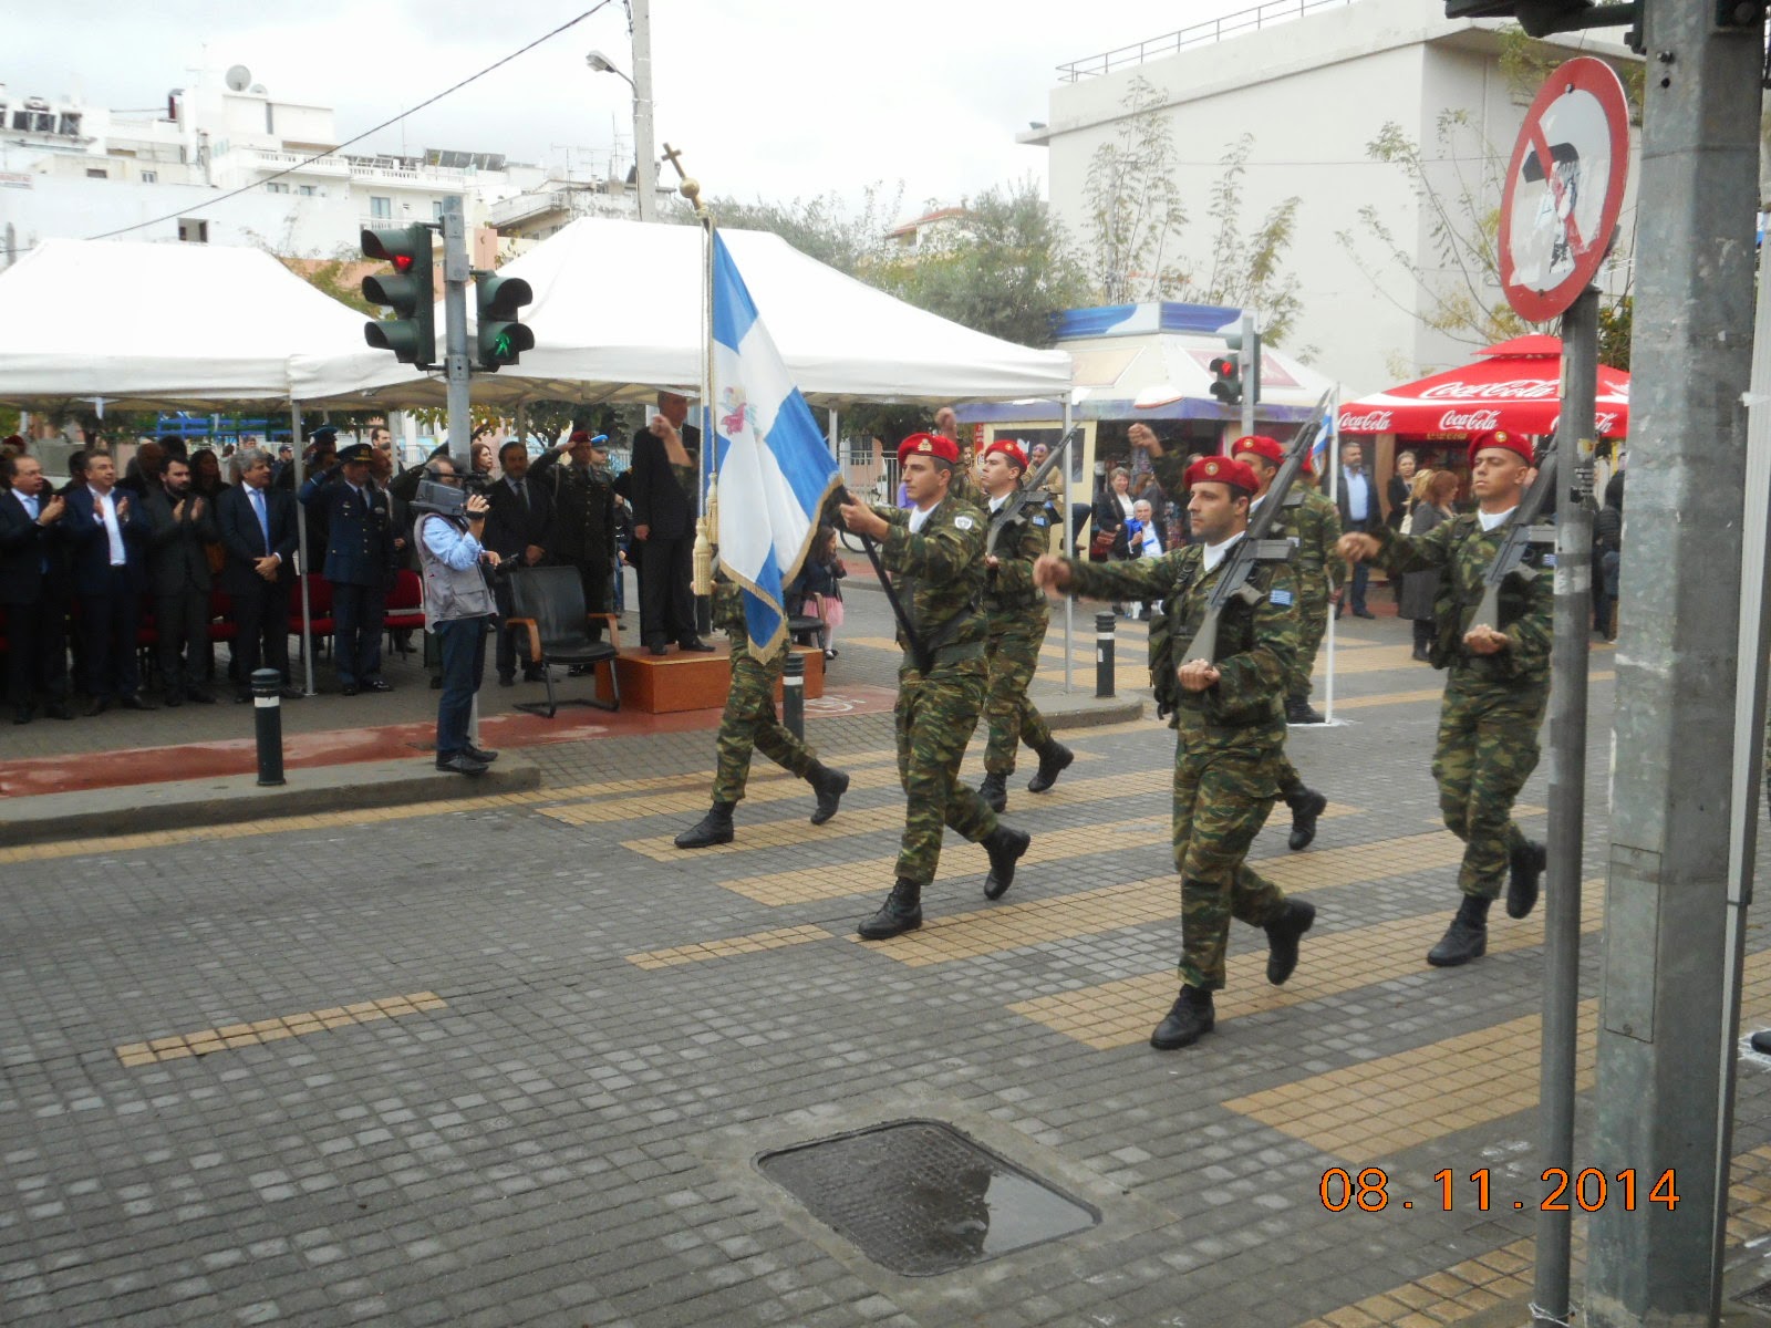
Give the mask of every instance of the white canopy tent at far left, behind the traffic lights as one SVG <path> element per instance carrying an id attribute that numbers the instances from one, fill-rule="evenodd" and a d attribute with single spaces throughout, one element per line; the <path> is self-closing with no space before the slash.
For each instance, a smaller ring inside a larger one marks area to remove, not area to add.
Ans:
<path id="1" fill-rule="evenodd" d="M 290 363 L 363 315 L 260 250 L 46 239 L 0 273 L 0 400 L 289 400 Z"/>

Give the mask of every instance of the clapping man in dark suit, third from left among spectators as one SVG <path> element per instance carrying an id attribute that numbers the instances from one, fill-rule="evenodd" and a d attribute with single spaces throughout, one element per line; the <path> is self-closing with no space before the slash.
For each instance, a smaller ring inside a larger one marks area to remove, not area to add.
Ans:
<path id="1" fill-rule="evenodd" d="M 159 483 L 142 499 L 147 513 L 147 586 L 154 597 L 154 650 L 159 659 L 161 699 L 168 706 L 214 705 L 202 685 L 209 659 L 209 552 L 216 513 L 191 494 L 191 469 L 166 457 Z"/>

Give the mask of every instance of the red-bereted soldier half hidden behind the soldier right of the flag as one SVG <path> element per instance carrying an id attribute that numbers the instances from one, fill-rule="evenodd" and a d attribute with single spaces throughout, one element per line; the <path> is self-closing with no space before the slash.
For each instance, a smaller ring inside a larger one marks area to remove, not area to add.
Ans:
<path id="1" fill-rule="evenodd" d="M 985 747 L 985 781 L 978 793 L 994 811 L 1008 807 L 1008 777 L 1015 774 L 1015 749 L 1022 742 L 1040 754 L 1040 772 L 1027 781 L 1031 793 L 1047 791 L 1077 760 L 1052 737 L 1027 696 L 1050 618 L 1045 595 L 1032 584 L 1032 560 L 1050 549 L 1057 513 L 1040 494 L 1013 521 L 1004 521 L 1004 508 L 1025 471 L 1027 457 L 1015 443 L 1004 439 L 985 448 L 983 489 L 990 515 L 985 535 L 985 613 L 990 618 L 985 724 L 990 745 Z"/>

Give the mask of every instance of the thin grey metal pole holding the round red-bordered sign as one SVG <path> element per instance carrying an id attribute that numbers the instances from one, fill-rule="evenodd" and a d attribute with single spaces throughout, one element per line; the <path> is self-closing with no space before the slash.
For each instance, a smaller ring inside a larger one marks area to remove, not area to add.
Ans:
<path id="1" fill-rule="evenodd" d="M 1544 1170 L 1569 1176 L 1574 1162 L 1574 1052 L 1580 1023 L 1580 878 L 1587 816 L 1587 639 L 1592 634 L 1592 398 L 1599 375 L 1599 292 L 1585 290 L 1562 315 L 1562 420 L 1558 464 L 1573 483 L 1557 503 L 1555 645 L 1550 692 L 1550 869 L 1544 891 L 1544 1022 L 1539 1052 L 1539 1137 Z M 1537 1211 L 1532 1312 L 1569 1314 L 1573 1206 Z"/>

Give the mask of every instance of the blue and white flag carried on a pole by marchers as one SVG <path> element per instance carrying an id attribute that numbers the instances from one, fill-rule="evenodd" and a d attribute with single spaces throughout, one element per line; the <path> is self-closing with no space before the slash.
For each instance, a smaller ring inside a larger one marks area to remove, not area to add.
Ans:
<path id="1" fill-rule="evenodd" d="M 799 575 L 841 471 L 717 234 L 714 404 L 719 563 L 744 586 L 751 653 L 767 659 L 786 636 L 781 586 Z"/>

